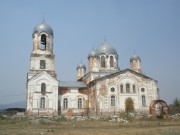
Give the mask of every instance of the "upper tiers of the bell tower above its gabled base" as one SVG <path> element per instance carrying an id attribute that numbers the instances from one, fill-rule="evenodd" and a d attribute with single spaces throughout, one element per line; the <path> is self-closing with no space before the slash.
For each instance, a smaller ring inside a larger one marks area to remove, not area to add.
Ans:
<path id="1" fill-rule="evenodd" d="M 36 25 L 32 34 L 33 49 L 30 58 L 30 72 L 28 79 L 41 71 L 46 71 L 56 78 L 53 54 L 53 30 L 46 23 Z"/>

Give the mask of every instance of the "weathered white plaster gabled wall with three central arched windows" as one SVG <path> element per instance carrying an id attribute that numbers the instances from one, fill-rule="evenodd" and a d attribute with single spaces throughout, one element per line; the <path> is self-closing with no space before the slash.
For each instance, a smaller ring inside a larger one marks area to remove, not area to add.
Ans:
<path id="1" fill-rule="evenodd" d="M 126 84 L 130 84 L 130 92 L 126 93 Z M 123 93 L 120 92 L 120 85 L 123 85 Z M 102 85 L 106 85 L 107 94 L 100 95 L 100 88 Z M 133 92 L 133 85 L 136 87 L 136 92 Z M 111 87 L 115 88 L 115 92 L 111 92 Z M 141 92 L 141 88 L 145 91 Z M 98 81 L 96 84 L 96 95 L 99 109 L 111 109 L 111 95 L 116 98 L 116 106 L 114 108 L 119 110 L 125 110 L 125 100 L 130 97 L 134 101 L 134 108 L 136 110 L 147 110 L 152 100 L 156 99 L 157 94 L 157 84 L 154 80 L 143 78 L 132 74 L 130 72 L 125 72 L 111 79 L 105 79 Z M 146 97 L 146 106 L 142 106 L 142 95 Z"/>

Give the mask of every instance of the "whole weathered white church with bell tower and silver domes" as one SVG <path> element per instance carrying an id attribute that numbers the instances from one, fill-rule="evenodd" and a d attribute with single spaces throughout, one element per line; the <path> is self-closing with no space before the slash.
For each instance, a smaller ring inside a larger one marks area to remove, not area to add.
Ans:
<path id="1" fill-rule="evenodd" d="M 141 58 L 134 53 L 130 68 L 120 69 L 118 53 L 104 41 L 81 62 L 77 80 L 58 80 L 53 53 L 53 29 L 45 21 L 32 33 L 30 70 L 27 73 L 27 108 L 30 116 L 86 115 L 125 111 L 132 99 L 136 111 L 149 112 L 157 100 L 158 82 L 142 74 Z"/>

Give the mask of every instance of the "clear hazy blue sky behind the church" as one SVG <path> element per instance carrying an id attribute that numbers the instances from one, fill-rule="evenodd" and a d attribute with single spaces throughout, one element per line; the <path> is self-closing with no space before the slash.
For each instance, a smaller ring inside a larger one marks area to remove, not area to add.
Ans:
<path id="1" fill-rule="evenodd" d="M 179 0 L 1 0 L 0 18 L 0 104 L 26 100 L 32 32 L 43 18 L 54 31 L 58 80 L 76 80 L 77 65 L 87 66 L 106 37 L 121 70 L 135 50 L 160 98 L 180 98 Z"/>

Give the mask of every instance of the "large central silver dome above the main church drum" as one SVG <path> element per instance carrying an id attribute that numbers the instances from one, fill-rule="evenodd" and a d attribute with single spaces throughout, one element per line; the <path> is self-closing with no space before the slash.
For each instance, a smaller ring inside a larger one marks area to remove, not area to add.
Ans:
<path id="1" fill-rule="evenodd" d="M 115 54 L 115 55 L 117 55 L 116 49 L 114 49 L 112 46 L 110 46 L 107 42 L 104 42 L 102 45 L 100 45 L 96 49 L 96 51 L 98 54 L 105 54 L 105 55 Z"/>

